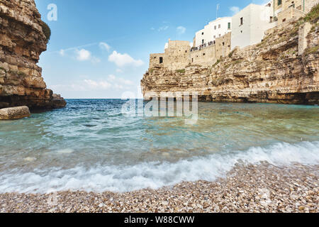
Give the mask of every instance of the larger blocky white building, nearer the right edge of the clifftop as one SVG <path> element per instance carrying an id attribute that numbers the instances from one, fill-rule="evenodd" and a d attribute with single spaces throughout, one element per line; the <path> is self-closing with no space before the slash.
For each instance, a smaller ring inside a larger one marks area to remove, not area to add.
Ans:
<path id="1" fill-rule="evenodd" d="M 276 23 L 273 23 L 273 16 L 274 9 L 271 2 L 265 6 L 250 4 L 233 16 L 231 49 L 260 43 L 265 31 L 276 26 Z"/>

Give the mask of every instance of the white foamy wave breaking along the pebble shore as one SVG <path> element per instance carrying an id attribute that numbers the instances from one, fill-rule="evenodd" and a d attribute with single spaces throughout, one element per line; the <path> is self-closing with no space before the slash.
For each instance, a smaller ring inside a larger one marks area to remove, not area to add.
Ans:
<path id="1" fill-rule="evenodd" d="M 143 162 L 131 166 L 78 166 L 69 170 L 35 170 L 34 172 L 2 172 L 0 192 L 47 193 L 66 190 L 86 192 L 130 192 L 158 189 L 183 181 L 214 181 L 225 177 L 237 162 L 273 165 L 318 165 L 319 141 L 297 144 L 277 143 L 267 148 L 216 153 L 179 162 Z"/>

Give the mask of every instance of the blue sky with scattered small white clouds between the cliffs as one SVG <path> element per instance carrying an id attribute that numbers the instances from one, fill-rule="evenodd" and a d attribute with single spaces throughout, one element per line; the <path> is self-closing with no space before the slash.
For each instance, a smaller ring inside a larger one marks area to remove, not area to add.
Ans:
<path id="1" fill-rule="evenodd" d="M 140 97 L 150 53 L 264 0 L 35 0 L 52 31 L 40 55 L 47 87 L 66 99 Z M 53 4 L 53 5 L 52 5 Z M 55 8 L 56 6 L 56 8 Z"/>

